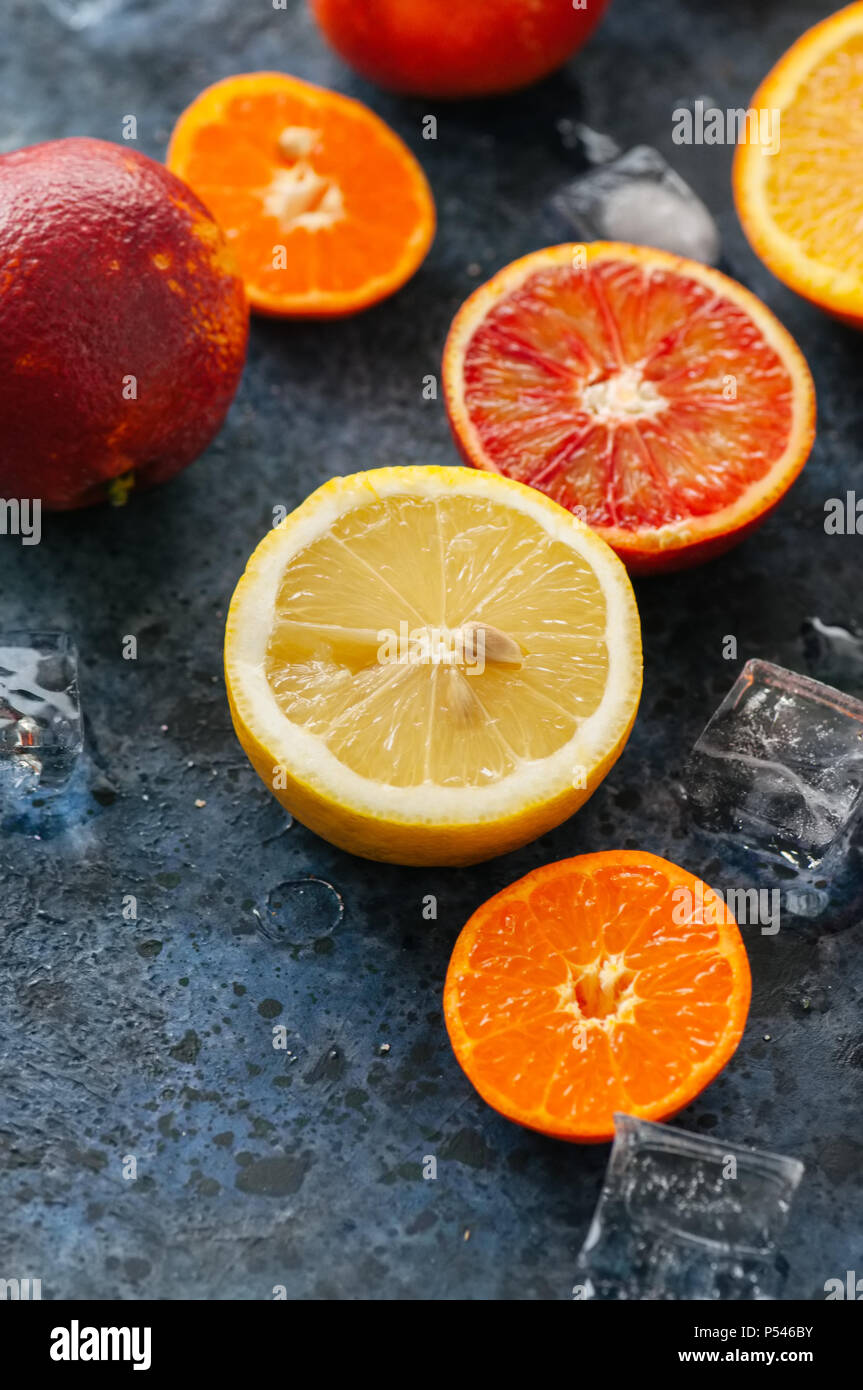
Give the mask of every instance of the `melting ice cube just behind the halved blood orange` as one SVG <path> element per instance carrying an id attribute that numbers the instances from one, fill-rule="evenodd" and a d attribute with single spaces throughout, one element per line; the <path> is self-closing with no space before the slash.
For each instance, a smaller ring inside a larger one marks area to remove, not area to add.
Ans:
<path id="1" fill-rule="evenodd" d="M 714 265 L 718 228 L 700 197 L 649 145 L 561 188 L 553 211 L 585 240 L 635 242 Z"/>

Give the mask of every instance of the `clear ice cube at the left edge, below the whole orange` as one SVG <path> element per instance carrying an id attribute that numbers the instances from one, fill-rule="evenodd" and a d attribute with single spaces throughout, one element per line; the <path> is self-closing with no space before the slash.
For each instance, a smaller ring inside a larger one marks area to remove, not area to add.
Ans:
<path id="1" fill-rule="evenodd" d="M 65 632 L 0 634 L 0 798 L 63 787 L 82 746 L 71 638 Z"/>

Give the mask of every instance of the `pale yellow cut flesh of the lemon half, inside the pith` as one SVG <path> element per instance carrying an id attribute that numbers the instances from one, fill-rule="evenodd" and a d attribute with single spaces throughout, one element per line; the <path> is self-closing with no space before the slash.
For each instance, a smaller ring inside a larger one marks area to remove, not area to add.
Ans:
<path id="1" fill-rule="evenodd" d="M 606 630 L 593 567 L 536 518 L 492 498 L 395 495 L 286 562 L 265 676 L 285 719 L 360 777 L 489 787 L 598 710 Z"/>

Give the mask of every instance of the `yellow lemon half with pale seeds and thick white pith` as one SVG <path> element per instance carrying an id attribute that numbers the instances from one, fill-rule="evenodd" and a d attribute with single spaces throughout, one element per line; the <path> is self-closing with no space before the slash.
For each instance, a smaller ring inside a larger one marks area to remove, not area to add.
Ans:
<path id="1" fill-rule="evenodd" d="M 238 738 L 352 853 L 466 865 L 560 824 L 620 755 L 642 678 L 613 550 L 470 468 L 324 484 L 257 546 L 225 632 Z"/>

